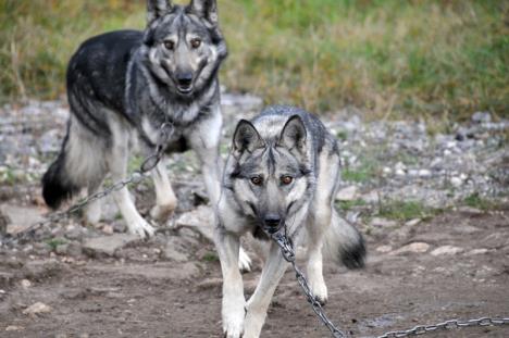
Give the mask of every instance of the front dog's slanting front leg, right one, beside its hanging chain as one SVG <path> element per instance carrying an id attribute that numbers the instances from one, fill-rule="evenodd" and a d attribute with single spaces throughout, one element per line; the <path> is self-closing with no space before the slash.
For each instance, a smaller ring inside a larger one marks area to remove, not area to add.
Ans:
<path id="1" fill-rule="evenodd" d="M 260 336 L 272 296 L 288 264 L 283 259 L 280 247 L 272 242 L 260 283 L 247 303 L 244 338 L 258 338 Z"/>

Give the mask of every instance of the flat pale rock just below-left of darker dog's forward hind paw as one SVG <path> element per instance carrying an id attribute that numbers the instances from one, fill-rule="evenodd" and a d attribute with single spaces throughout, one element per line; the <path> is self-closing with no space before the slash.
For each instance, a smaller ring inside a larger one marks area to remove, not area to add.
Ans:
<path id="1" fill-rule="evenodd" d="M 115 234 L 89 238 L 83 243 L 83 251 L 90 256 L 113 255 L 116 250 L 140 240 L 136 235 Z"/>

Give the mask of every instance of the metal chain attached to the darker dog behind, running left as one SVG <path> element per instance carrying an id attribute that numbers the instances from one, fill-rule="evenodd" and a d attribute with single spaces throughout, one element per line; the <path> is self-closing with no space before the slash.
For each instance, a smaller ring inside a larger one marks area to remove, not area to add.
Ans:
<path id="1" fill-rule="evenodd" d="M 167 121 L 161 125 L 161 127 L 159 128 L 159 136 L 156 142 L 154 152 L 150 154 L 148 158 L 146 158 L 144 162 L 141 163 L 139 170 L 135 171 L 128 178 L 116 181 L 101 191 L 87 196 L 86 198 L 78 201 L 76 204 L 73 204 L 70 208 L 67 208 L 65 211 L 54 212 L 45 216 L 46 220 L 34 223 L 33 225 L 24 229 L 22 233 L 17 233 L 14 236 L 12 236 L 10 239 L 4 241 L 3 243 L 9 245 L 13 242 L 14 240 L 23 239 L 27 237 L 28 235 L 32 236 L 37 229 L 44 226 L 47 226 L 51 223 L 60 222 L 64 218 L 67 218 L 69 216 L 82 210 L 87 204 L 94 201 L 102 199 L 114 191 L 119 191 L 131 184 L 138 185 L 142 180 L 147 179 L 149 177 L 148 173 L 158 165 L 159 161 L 164 155 L 164 147 L 166 142 L 169 141 L 170 137 L 172 136 L 173 130 L 174 130 L 173 124 L 171 124 Z"/>

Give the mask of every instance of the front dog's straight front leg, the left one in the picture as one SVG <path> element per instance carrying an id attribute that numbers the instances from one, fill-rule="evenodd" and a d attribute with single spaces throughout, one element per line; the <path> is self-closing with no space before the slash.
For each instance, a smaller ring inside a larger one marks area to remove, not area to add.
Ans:
<path id="1" fill-rule="evenodd" d="M 223 331 L 227 338 L 239 338 L 246 314 L 243 276 L 238 270 L 240 240 L 237 235 L 228 233 L 220 225 L 215 229 L 214 241 L 223 273 Z"/>

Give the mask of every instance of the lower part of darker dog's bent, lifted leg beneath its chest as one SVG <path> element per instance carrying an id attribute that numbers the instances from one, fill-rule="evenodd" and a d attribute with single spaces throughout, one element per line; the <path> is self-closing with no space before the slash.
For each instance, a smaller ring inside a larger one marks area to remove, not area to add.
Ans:
<path id="1" fill-rule="evenodd" d="M 167 220 L 177 204 L 177 198 L 167 177 L 164 158 L 152 170 L 152 179 L 156 189 L 156 205 L 150 210 L 150 216 L 162 222 Z"/>

